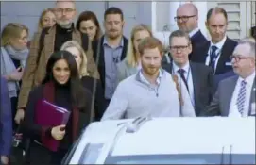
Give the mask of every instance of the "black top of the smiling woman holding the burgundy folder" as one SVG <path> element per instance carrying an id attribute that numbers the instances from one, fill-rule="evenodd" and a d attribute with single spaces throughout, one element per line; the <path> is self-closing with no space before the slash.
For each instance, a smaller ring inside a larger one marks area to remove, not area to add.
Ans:
<path id="1" fill-rule="evenodd" d="M 41 140 L 41 133 L 42 127 L 41 125 L 34 123 L 34 116 L 36 110 L 36 104 L 39 100 L 43 99 L 43 88 L 44 85 L 36 87 L 32 91 L 30 91 L 28 102 L 26 106 L 26 113 L 25 113 L 25 133 L 26 137 L 33 140 Z M 91 102 L 92 102 L 92 93 L 90 91 L 86 91 L 87 93 L 86 98 L 86 109 L 79 109 L 80 111 L 85 111 L 86 113 L 80 113 L 79 118 L 81 117 L 82 120 L 79 119 L 79 124 L 82 124 L 82 127 L 89 124 L 89 115 L 87 113 L 90 111 Z M 71 94 L 69 87 L 67 85 L 60 85 L 55 83 L 55 102 L 54 104 L 59 107 L 66 108 L 72 112 L 73 108 L 71 105 Z M 84 115 L 83 115 L 84 114 Z M 79 126 L 81 127 L 81 126 Z M 70 119 L 66 124 L 66 133 L 64 139 L 60 141 L 60 148 L 61 149 L 68 149 L 72 144 L 72 114 L 70 115 Z"/>

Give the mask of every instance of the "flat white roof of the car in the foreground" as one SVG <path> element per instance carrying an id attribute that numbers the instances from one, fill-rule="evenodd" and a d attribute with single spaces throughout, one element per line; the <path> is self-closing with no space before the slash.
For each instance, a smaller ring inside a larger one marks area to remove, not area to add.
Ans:
<path id="1" fill-rule="evenodd" d="M 123 135 L 112 155 L 217 154 L 230 145 L 233 152 L 255 153 L 255 118 L 155 119 Z"/>

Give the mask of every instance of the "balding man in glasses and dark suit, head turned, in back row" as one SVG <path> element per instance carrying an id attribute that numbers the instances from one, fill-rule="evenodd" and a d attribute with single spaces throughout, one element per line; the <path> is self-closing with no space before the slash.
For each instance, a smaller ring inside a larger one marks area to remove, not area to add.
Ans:
<path id="1" fill-rule="evenodd" d="M 192 52 L 196 47 L 203 42 L 206 42 L 206 38 L 198 28 L 198 9 L 192 3 L 186 3 L 181 5 L 177 9 L 177 16 L 175 17 L 179 30 L 182 30 L 189 34 L 192 44 Z M 189 55 L 189 58 L 191 58 Z"/>

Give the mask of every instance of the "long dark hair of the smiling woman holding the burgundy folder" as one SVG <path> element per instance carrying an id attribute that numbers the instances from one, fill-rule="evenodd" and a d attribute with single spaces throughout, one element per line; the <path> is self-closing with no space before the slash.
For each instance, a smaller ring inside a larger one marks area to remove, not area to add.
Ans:
<path id="1" fill-rule="evenodd" d="M 69 87 L 71 92 L 70 94 L 71 94 L 72 105 L 77 108 L 83 108 L 86 106 L 85 101 L 83 100 L 83 98 L 86 98 L 84 96 L 86 91 L 84 90 L 80 82 L 79 74 L 77 70 L 77 63 L 74 56 L 71 53 L 67 51 L 58 51 L 53 53 L 50 56 L 46 65 L 46 74 L 43 79 L 43 84 L 54 81 L 53 67 L 56 64 L 56 62 L 59 61 L 60 59 L 66 60 L 70 70 Z"/>

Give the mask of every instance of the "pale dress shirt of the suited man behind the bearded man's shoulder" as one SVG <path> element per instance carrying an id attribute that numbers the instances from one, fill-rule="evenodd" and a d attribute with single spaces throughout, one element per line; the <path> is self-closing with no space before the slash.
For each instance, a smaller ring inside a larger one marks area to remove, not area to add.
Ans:
<path id="1" fill-rule="evenodd" d="M 184 76 L 185 76 L 185 79 L 186 79 L 187 84 L 188 84 L 190 101 L 191 101 L 191 104 L 193 105 L 193 107 L 195 107 L 194 86 L 193 86 L 193 79 L 192 79 L 191 68 L 190 68 L 189 62 L 187 62 L 182 68 L 179 68 L 179 66 L 177 66 L 175 64 L 175 62 L 173 62 L 173 72 L 174 72 L 174 74 L 178 75 L 179 86 L 181 87 L 182 79 L 181 79 L 180 74 L 178 72 L 179 69 L 183 69 L 185 71 L 184 72 Z M 186 90 L 187 91 L 186 88 L 185 89 L 181 89 L 181 90 Z"/>

